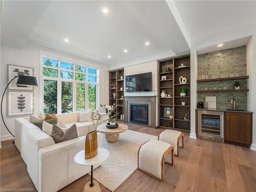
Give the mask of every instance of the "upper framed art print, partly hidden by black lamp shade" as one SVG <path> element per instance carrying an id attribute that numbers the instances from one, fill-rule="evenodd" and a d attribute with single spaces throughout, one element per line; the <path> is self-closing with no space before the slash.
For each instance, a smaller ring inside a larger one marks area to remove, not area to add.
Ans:
<path id="1" fill-rule="evenodd" d="M 29 75 L 34 76 L 34 69 L 29 67 L 22 67 L 22 66 L 14 66 L 14 65 L 7 65 L 8 69 L 8 82 L 10 82 L 15 76 L 17 75 Z M 18 78 L 14 79 L 10 84 L 8 89 L 9 90 L 33 90 L 31 86 L 17 86 Z"/>

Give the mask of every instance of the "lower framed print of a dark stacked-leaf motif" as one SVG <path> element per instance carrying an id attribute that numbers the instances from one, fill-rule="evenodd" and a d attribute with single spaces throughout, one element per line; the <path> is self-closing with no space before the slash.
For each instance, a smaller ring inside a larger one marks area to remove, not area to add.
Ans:
<path id="1" fill-rule="evenodd" d="M 33 92 L 8 92 L 8 115 L 33 114 Z"/>

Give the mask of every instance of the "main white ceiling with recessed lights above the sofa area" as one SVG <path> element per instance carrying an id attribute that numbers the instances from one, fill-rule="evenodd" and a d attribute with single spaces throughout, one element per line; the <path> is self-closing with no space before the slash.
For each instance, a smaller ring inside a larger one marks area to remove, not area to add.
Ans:
<path id="1" fill-rule="evenodd" d="M 163 51 L 172 56 L 189 50 L 165 1 L 51 1 L 41 11 L 31 11 L 42 3 L 5 2 L 3 20 L 8 24 L 3 25 L 1 38 L 29 41 L 106 65 Z M 108 14 L 102 12 L 103 7 Z M 39 14 L 40 19 L 31 21 Z M 70 42 L 63 41 L 66 37 Z M 150 46 L 144 45 L 146 40 Z"/>

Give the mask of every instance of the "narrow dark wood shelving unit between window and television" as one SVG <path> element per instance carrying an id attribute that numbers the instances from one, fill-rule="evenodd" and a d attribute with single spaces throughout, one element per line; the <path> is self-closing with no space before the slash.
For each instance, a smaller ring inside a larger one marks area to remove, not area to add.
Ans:
<path id="1" fill-rule="evenodd" d="M 122 76 L 122 79 L 121 79 Z M 110 71 L 109 72 L 109 104 L 116 105 L 117 119 L 120 120 L 121 115 L 124 114 L 124 99 L 121 99 L 124 95 L 124 79 L 123 69 Z M 115 87 L 112 88 L 111 84 Z M 122 89 L 122 90 L 121 90 Z M 114 94 L 116 97 L 114 98 Z"/>

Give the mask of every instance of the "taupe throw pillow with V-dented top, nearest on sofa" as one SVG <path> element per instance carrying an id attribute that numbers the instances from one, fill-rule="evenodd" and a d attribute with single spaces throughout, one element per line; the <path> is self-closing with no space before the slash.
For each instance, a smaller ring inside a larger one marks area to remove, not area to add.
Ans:
<path id="1" fill-rule="evenodd" d="M 50 135 L 55 143 L 60 143 L 70 139 L 75 139 L 78 137 L 76 124 L 73 124 L 65 133 L 56 124 L 52 126 L 52 135 Z"/>

